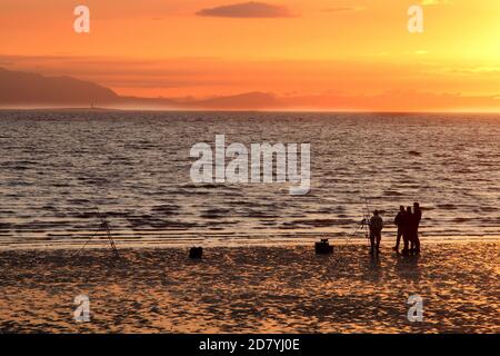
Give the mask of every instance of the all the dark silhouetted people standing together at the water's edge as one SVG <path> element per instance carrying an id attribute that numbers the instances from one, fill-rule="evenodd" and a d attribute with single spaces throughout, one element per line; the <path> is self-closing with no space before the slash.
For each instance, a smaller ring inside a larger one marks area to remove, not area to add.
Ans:
<path id="1" fill-rule="evenodd" d="M 411 207 L 407 207 L 406 209 L 403 206 L 399 207 L 399 212 L 394 218 L 394 224 L 398 227 L 398 235 L 396 238 L 396 246 L 393 247 L 398 254 L 401 238 L 403 239 L 402 255 L 420 253 L 419 226 L 421 219 L 422 210 L 418 202 L 413 204 L 413 210 Z M 368 226 L 370 228 L 370 254 L 379 254 L 383 220 L 378 210 L 373 211 L 373 216 L 368 220 Z"/>

